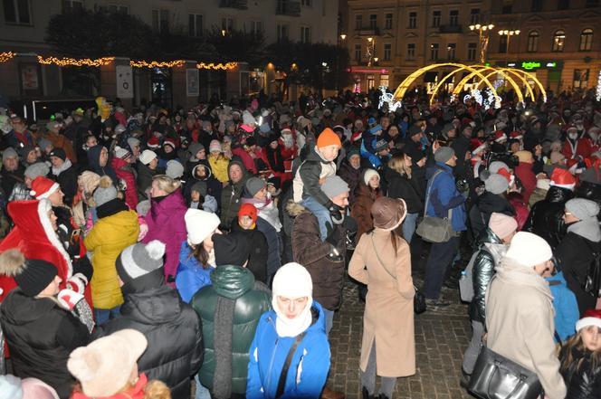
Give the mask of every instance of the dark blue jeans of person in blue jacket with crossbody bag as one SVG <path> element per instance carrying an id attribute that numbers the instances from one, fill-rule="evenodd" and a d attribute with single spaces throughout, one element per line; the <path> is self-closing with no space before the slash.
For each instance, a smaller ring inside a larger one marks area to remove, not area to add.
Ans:
<path id="1" fill-rule="evenodd" d="M 459 237 L 447 242 L 434 242 L 425 264 L 424 295 L 426 299 L 438 299 L 443 288 L 444 276 L 451 266 L 459 247 Z"/>

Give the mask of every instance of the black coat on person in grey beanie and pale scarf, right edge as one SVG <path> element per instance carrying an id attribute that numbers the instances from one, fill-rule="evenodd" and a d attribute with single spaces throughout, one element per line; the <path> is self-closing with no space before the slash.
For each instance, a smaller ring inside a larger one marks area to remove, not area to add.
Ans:
<path id="1" fill-rule="evenodd" d="M 576 295 L 580 316 L 587 309 L 595 309 L 596 306 L 596 298 L 582 288 L 587 279 L 588 266 L 593 261 L 593 251 L 601 251 L 601 242 L 591 242 L 573 232 L 566 234 L 555 251 L 555 258 L 559 269 L 564 272 L 568 289 Z"/>

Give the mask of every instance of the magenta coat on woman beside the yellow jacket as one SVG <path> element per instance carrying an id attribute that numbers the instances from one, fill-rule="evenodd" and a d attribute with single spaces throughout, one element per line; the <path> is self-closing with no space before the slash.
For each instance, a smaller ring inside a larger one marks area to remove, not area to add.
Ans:
<path id="1" fill-rule="evenodd" d="M 186 241 L 186 215 L 187 206 L 182 191 L 176 191 L 164 197 L 161 201 L 152 198 L 150 211 L 146 215 L 148 233 L 142 240 L 144 243 L 158 240 L 166 245 L 165 251 L 165 279 L 167 284 L 175 286 L 179 251 L 182 242 Z"/>

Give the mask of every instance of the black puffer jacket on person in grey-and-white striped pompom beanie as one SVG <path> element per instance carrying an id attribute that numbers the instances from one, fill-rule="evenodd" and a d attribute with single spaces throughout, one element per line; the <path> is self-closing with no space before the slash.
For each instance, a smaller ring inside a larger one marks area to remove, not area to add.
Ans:
<path id="1" fill-rule="evenodd" d="M 171 388 L 173 399 L 190 398 L 190 377 L 203 361 L 203 335 L 194 309 L 162 284 L 163 269 L 152 271 L 123 287 L 121 317 L 102 327 L 99 335 L 133 328 L 148 339 L 148 349 L 138 360 L 140 372 Z"/>

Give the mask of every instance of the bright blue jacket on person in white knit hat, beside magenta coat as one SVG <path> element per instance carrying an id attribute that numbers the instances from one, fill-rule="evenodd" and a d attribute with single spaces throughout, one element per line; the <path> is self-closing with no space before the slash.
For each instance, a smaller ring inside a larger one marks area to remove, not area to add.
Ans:
<path id="1" fill-rule="evenodd" d="M 179 265 L 176 273 L 176 289 L 184 302 L 190 303 L 194 294 L 201 288 L 211 285 L 212 267 L 207 269 L 192 255 L 192 248 L 188 243 L 182 242 L 179 251 Z"/>

